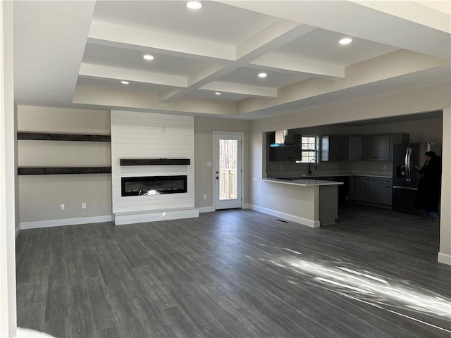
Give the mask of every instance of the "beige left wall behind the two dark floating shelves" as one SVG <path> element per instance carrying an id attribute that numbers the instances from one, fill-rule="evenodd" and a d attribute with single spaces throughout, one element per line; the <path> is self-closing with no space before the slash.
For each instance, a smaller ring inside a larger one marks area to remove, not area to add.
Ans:
<path id="1" fill-rule="evenodd" d="M 17 115 L 20 132 L 110 134 L 109 111 L 18 106 Z M 18 140 L 18 165 L 109 166 L 111 144 Z M 19 175 L 18 182 L 22 228 L 111 219 L 110 174 Z"/>

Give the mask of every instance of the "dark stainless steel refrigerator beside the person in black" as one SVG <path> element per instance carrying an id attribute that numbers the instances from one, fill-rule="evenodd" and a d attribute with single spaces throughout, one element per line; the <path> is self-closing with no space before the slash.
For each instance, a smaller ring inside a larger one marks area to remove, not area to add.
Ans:
<path id="1" fill-rule="evenodd" d="M 392 208 L 395 211 L 421 215 L 423 210 L 414 207 L 420 175 L 414 165 L 424 165 L 424 153 L 434 151 L 440 155 L 440 147 L 432 143 L 393 145 Z"/>

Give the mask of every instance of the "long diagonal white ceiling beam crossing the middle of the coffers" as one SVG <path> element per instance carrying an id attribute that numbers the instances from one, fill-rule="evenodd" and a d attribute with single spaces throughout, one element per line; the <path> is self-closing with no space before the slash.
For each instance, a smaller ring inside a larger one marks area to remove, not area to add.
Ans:
<path id="1" fill-rule="evenodd" d="M 233 70 L 248 65 L 248 63 L 255 58 L 263 56 L 269 51 L 283 46 L 288 42 L 301 37 L 314 30 L 314 27 L 307 25 L 299 25 L 297 23 L 288 22 L 286 20 L 278 20 L 273 25 L 266 27 L 259 33 L 250 37 L 245 42 L 242 42 L 236 47 L 235 61 L 229 62 L 222 68 L 213 71 L 199 72 L 188 77 L 188 86 L 176 90 L 165 92 L 161 97 L 164 101 L 171 101 L 185 96 L 189 92 L 199 87 L 208 84 L 211 81 L 217 80 L 223 75 L 226 75 Z M 201 74 L 203 73 L 203 74 Z"/>

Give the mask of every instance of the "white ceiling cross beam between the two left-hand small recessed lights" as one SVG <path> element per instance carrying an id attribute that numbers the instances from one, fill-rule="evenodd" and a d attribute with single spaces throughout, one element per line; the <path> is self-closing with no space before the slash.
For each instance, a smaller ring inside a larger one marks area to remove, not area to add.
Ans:
<path id="1" fill-rule="evenodd" d="M 80 65 L 79 75 L 82 77 L 162 84 L 171 87 L 186 87 L 187 85 L 187 78 L 183 76 L 143 72 L 142 70 L 115 68 L 104 65 L 90 65 L 87 63 L 82 63 Z"/>

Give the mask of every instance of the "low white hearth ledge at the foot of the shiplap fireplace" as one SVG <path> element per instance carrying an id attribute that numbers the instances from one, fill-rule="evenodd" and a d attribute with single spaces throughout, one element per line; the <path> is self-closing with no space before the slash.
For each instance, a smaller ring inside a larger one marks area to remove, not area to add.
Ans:
<path id="1" fill-rule="evenodd" d="M 114 213 L 115 225 L 157 222 L 159 220 L 180 220 L 199 217 L 197 208 L 180 208 L 168 210 L 130 211 Z"/>

